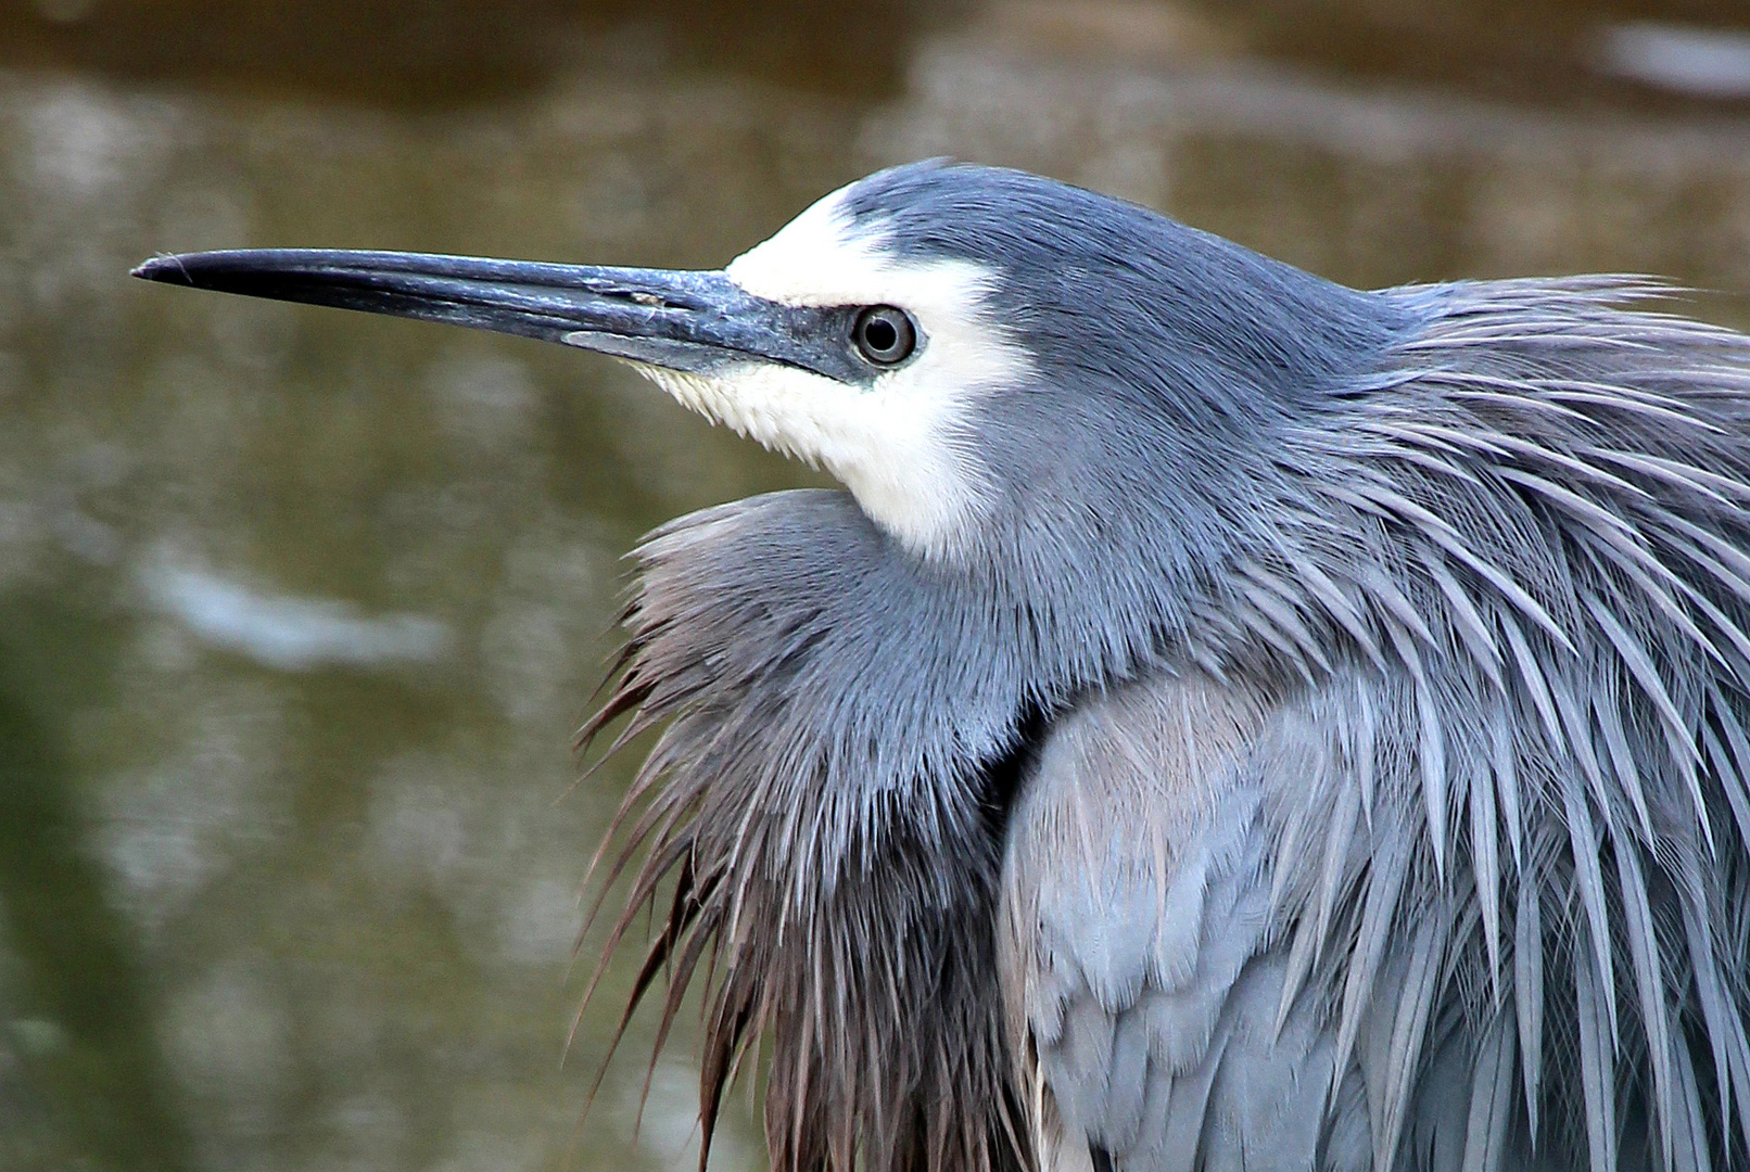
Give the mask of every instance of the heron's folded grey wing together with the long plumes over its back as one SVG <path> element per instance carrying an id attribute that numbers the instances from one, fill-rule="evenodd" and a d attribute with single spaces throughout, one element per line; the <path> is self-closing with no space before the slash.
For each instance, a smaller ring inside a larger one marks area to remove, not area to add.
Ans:
<path id="1" fill-rule="evenodd" d="M 1001 939 L 1041 1132 L 1162 1172 L 1750 1167 L 1750 341 L 1654 292 L 1391 290 L 1426 329 L 1190 617 L 1239 658 L 1052 729 Z"/>

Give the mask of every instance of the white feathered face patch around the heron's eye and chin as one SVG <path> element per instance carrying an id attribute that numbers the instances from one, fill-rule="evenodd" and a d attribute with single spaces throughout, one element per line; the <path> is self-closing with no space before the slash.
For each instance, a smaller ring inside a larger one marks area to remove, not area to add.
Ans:
<path id="1" fill-rule="evenodd" d="M 914 553 L 950 556 L 990 493 L 990 472 L 968 443 L 970 406 L 980 392 L 1026 378 L 1031 362 L 982 313 L 989 269 L 906 262 L 882 245 L 878 233 L 854 231 L 838 191 L 724 269 L 747 292 L 784 304 L 906 310 L 919 350 L 872 385 L 763 362 L 709 374 L 639 369 L 707 418 L 826 467 Z"/>

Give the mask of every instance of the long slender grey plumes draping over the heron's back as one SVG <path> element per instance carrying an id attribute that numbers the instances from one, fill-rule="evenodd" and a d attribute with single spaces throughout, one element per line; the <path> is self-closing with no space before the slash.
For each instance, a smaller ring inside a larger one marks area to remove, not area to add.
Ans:
<path id="1" fill-rule="evenodd" d="M 1388 680 L 1314 705 L 1274 878 L 1284 1006 L 1386 1032 L 1377 1167 L 1451 1102 L 1479 1167 L 1750 1158 L 1750 339 L 1657 292 L 1395 290 L 1430 318 L 1321 430 L 1328 518 L 1242 570 L 1283 663 Z"/>

